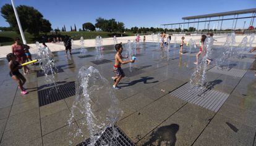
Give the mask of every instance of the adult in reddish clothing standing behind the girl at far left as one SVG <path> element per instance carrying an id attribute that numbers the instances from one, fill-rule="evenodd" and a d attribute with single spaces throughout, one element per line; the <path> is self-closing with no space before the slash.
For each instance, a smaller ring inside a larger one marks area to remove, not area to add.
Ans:
<path id="1" fill-rule="evenodd" d="M 12 44 L 12 53 L 16 55 L 17 62 L 20 64 L 25 63 L 27 60 L 26 54 L 25 54 L 25 47 L 22 43 L 20 43 L 20 38 L 15 38 L 15 43 Z M 23 68 L 23 73 L 26 75 L 29 72 L 29 68 L 27 65 L 25 65 Z"/>

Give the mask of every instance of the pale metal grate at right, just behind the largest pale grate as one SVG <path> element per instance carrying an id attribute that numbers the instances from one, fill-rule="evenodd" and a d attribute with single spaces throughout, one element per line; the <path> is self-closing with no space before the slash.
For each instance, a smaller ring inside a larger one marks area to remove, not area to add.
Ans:
<path id="1" fill-rule="evenodd" d="M 237 68 L 231 68 L 230 70 L 218 70 L 217 67 L 213 67 L 209 71 L 213 73 L 220 73 L 224 75 L 235 76 L 238 78 L 242 78 L 246 73 L 246 70 L 239 70 Z"/>

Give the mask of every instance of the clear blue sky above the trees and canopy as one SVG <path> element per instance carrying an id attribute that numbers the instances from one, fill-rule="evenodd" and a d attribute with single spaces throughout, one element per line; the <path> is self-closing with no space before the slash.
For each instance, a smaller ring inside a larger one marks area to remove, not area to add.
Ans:
<path id="1" fill-rule="evenodd" d="M 0 0 L 0 7 L 6 3 L 11 4 L 11 0 Z M 115 18 L 124 22 L 126 28 L 156 27 L 164 23 L 183 22 L 182 17 L 192 15 L 256 8 L 256 0 L 15 0 L 15 6 L 19 5 L 39 10 L 51 22 L 53 29 L 66 25 L 69 30 L 74 24 L 77 29 L 86 22 L 94 24 L 98 17 Z M 237 28 L 242 28 L 244 21 L 238 20 Z M 245 25 L 249 23 L 248 20 Z M 223 28 L 231 25 L 232 20 L 223 23 Z M 9 26 L 2 16 L 0 26 Z M 216 22 L 211 23 L 210 28 L 213 26 L 216 27 Z"/>

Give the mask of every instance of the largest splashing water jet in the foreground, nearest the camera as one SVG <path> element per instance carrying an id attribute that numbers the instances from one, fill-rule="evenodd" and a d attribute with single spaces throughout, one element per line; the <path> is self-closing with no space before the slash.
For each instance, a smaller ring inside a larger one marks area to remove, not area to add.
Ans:
<path id="1" fill-rule="evenodd" d="M 77 122 L 86 126 L 90 136 L 89 145 L 95 145 L 96 142 L 97 145 L 116 145 L 118 134 L 115 132 L 114 124 L 122 115 L 119 100 L 114 96 L 108 81 L 92 66 L 89 68 L 82 67 L 79 70 L 75 101 L 68 121 L 70 128 L 74 124 L 72 121 L 74 121 L 75 112 L 79 112 L 84 117 Z M 108 144 L 104 140 L 98 140 L 106 128 L 114 129 L 114 134 L 109 136 L 110 142 Z M 69 143 L 72 144 L 73 138 L 79 136 L 85 138 L 87 133 L 79 128 L 69 134 L 71 136 Z"/>

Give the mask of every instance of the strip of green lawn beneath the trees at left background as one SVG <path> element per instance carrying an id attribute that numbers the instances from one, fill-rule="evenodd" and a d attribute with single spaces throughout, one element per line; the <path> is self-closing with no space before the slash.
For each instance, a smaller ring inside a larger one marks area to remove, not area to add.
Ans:
<path id="1" fill-rule="evenodd" d="M 94 39 L 96 36 L 101 36 L 102 38 L 109 38 L 116 36 L 134 36 L 133 33 L 109 33 L 105 31 L 66 31 L 66 32 L 58 32 L 56 33 L 47 33 L 47 36 L 49 38 L 53 38 L 56 36 L 70 36 L 72 39 L 77 40 L 80 39 L 81 36 L 83 36 L 83 39 Z M 40 37 L 34 38 L 34 36 L 30 33 L 25 32 L 25 39 L 27 41 L 27 44 L 35 43 L 38 40 L 41 40 L 41 36 L 43 34 L 40 34 Z M 6 46 L 11 45 L 14 43 L 14 38 L 19 37 L 21 39 L 20 34 L 16 33 L 15 31 L 0 31 L 0 46 Z"/>

